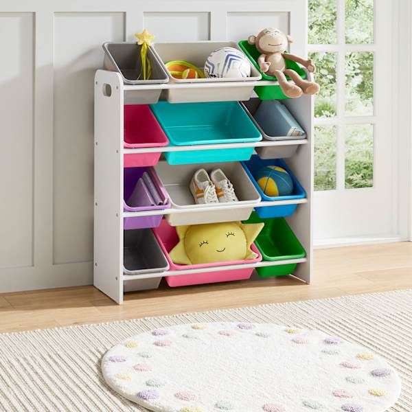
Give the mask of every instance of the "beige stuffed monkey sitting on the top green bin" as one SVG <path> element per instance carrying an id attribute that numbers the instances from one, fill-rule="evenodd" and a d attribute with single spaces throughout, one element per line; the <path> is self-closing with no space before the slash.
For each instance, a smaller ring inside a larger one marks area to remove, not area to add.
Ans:
<path id="1" fill-rule="evenodd" d="M 255 45 L 258 52 L 261 53 L 258 58 L 260 70 L 269 76 L 275 76 L 280 88 L 288 98 L 299 98 L 303 93 L 312 95 L 319 91 L 319 84 L 303 80 L 295 70 L 286 69 L 285 59 L 300 63 L 310 73 L 314 73 L 316 69 L 312 60 L 305 60 L 299 56 L 285 53 L 289 43 L 293 43 L 290 36 L 269 27 L 262 30 L 258 36 L 249 36 L 247 41 L 249 45 Z M 285 75 L 289 76 L 295 84 L 288 82 Z"/>

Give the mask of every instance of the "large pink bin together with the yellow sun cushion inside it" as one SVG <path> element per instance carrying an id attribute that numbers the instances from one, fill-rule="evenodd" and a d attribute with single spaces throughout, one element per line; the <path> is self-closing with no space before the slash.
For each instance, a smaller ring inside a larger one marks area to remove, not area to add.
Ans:
<path id="1" fill-rule="evenodd" d="M 211 227 L 213 225 L 217 226 Z M 203 227 L 207 227 L 207 230 L 203 231 Z M 161 225 L 153 229 L 163 249 L 163 253 L 165 253 L 168 259 L 170 270 L 182 271 L 185 269 L 204 268 L 209 268 L 210 270 L 190 275 L 166 276 L 165 279 L 169 286 L 187 286 L 249 279 L 253 268 L 229 269 L 227 271 L 214 270 L 214 268 L 216 266 L 254 263 L 262 260 L 260 251 L 253 243 L 253 240 L 262 229 L 262 225 L 249 226 L 242 225 L 240 222 L 226 222 L 178 228 L 176 231 L 176 227 L 170 226 L 168 222 L 162 220 Z M 236 235 L 238 235 L 238 240 L 235 239 Z M 236 242 L 240 240 L 244 242 L 242 250 L 244 250 L 245 255 L 242 256 L 242 259 L 239 259 L 239 251 L 236 250 Z M 187 244 L 187 248 L 185 248 L 185 244 Z M 197 253 L 197 249 L 200 253 Z M 216 259 L 219 258 L 220 254 L 222 255 L 222 261 L 217 262 Z M 175 263 L 172 258 L 183 263 Z M 227 261 L 225 260 L 227 258 L 238 260 Z M 204 260 L 209 260 L 209 262 L 196 263 Z M 213 260 L 213 262 L 210 260 Z"/>

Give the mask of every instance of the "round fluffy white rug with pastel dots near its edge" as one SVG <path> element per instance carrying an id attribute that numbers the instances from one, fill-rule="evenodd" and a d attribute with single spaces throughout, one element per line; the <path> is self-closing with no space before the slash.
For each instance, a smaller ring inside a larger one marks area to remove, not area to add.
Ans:
<path id="1" fill-rule="evenodd" d="M 188 323 L 130 336 L 103 376 L 154 412 L 385 412 L 400 378 L 384 359 L 319 330 Z"/>

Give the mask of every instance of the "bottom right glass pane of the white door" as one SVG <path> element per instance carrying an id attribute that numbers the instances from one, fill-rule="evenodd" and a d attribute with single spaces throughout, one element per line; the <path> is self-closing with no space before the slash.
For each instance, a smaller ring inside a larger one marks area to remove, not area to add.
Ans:
<path id="1" fill-rule="evenodd" d="M 354 189 L 374 185 L 374 126 L 346 126 L 345 187 Z"/>

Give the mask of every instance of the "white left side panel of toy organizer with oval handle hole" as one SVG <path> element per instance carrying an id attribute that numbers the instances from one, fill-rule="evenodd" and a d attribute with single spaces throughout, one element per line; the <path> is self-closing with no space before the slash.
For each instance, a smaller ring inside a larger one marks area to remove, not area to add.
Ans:
<path id="1" fill-rule="evenodd" d="M 95 219 L 93 284 L 123 301 L 123 83 L 118 73 L 95 76 Z"/>

